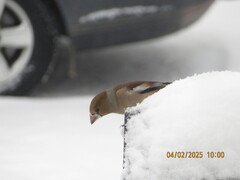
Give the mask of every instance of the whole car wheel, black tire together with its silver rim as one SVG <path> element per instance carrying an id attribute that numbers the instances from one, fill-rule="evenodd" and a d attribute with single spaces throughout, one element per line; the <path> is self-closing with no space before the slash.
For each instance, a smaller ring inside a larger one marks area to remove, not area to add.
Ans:
<path id="1" fill-rule="evenodd" d="M 26 95 L 56 53 L 59 26 L 40 0 L 6 0 L 0 17 L 0 94 Z"/>

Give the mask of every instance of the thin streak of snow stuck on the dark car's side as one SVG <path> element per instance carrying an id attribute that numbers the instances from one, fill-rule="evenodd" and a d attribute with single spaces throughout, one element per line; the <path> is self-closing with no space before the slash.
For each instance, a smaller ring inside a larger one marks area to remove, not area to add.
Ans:
<path id="1" fill-rule="evenodd" d="M 89 14 L 86 14 L 79 18 L 80 23 L 88 23 L 88 22 L 94 22 L 99 20 L 112 20 L 119 16 L 126 16 L 126 15 L 132 15 L 132 16 L 140 16 L 142 14 L 152 14 L 156 13 L 158 11 L 169 11 L 172 7 L 169 6 L 133 6 L 133 7 L 123 7 L 123 8 L 111 8 L 111 9 L 103 9 L 98 10 L 96 12 L 92 12 Z"/>

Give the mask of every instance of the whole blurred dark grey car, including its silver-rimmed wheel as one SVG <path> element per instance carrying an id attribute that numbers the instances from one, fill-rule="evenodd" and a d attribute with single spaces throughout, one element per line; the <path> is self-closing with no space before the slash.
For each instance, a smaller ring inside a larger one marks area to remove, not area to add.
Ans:
<path id="1" fill-rule="evenodd" d="M 0 94 L 28 94 L 48 71 L 63 37 L 78 51 L 160 37 L 192 24 L 212 3 L 1 0 Z"/>

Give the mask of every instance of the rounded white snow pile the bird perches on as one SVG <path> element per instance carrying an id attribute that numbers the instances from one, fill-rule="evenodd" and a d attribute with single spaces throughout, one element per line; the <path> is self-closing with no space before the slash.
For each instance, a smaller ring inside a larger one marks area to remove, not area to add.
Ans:
<path id="1" fill-rule="evenodd" d="M 240 73 L 176 81 L 129 111 L 125 180 L 240 178 Z"/>

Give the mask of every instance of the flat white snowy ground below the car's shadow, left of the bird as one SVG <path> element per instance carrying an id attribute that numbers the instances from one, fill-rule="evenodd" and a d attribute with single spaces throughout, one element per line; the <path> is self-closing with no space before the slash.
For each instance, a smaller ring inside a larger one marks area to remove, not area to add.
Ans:
<path id="1" fill-rule="evenodd" d="M 90 101 L 1 97 L 0 179 L 120 177 L 123 119 L 110 115 L 92 126 Z"/>

